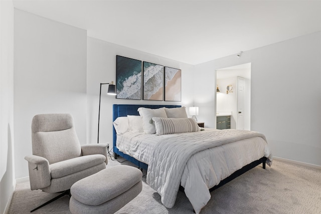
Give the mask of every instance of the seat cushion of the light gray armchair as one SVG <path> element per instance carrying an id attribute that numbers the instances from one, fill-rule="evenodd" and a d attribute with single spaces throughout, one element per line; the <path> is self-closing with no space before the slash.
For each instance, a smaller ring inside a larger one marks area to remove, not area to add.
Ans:
<path id="1" fill-rule="evenodd" d="M 106 157 L 102 154 L 92 154 L 53 163 L 50 165 L 51 177 L 59 178 L 67 176 L 99 165 L 103 163 L 105 159 Z"/>

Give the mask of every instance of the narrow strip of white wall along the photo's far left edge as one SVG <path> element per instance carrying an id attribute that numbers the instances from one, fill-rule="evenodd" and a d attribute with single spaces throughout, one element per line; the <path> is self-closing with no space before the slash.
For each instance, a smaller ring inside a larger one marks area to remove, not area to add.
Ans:
<path id="1" fill-rule="evenodd" d="M 14 8 L 0 1 L 0 213 L 10 205 L 14 166 Z"/>

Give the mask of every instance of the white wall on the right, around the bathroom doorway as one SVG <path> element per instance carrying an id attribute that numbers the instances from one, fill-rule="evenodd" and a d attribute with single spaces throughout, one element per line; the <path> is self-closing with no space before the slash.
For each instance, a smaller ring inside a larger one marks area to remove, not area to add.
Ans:
<path id="1" fill-rule="evenodd" d="M 320 56 L 317 32 L 198 65 L 196 72 L 206 77 L 210 70 L 251 63 L 251 130 L 265 134 L 274 156 L 320 166 Z M 203 79 L 202 85 L 212 84 Z"/>

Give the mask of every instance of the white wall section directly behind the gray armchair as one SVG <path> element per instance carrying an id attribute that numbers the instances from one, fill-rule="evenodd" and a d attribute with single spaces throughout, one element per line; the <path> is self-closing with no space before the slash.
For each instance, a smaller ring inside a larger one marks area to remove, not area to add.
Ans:
<path id="1" fill-rule="evenodd" d="M 29 176 L 31 121 L 43 113 L 70 113 L 86 143 L 85 30 L 15 10 L 14 130 L 16 178 Z"/>

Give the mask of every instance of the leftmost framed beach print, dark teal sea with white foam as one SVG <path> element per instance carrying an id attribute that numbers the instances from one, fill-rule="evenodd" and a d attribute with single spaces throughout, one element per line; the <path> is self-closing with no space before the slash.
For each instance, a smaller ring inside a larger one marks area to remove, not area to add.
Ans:
<path id="1" fill-rule="evenodd" d="M 141 61 L 116 56 L 116 98 L 141 99 Z"/>

